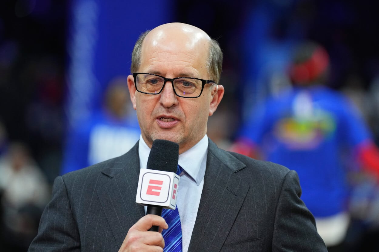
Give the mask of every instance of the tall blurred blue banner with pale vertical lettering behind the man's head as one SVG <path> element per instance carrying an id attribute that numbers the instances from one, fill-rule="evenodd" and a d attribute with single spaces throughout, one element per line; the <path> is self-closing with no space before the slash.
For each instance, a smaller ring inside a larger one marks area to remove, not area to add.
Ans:
<path id="1" fill-rule="evenodd" d="M 69 13 L 66 115 L 69 128 L 100 108 L 115 76 L 130 73 L 139 34 L 172 22 L 172 0 L 72 0 Z"/>

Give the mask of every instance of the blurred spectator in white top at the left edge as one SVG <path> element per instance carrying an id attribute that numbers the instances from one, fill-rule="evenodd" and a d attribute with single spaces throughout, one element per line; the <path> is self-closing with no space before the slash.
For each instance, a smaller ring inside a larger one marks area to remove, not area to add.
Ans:
<path id="1" fill-rule="evenodd" d="M 0 174 L 1 251 L 26 251 L 50 198 L 47 179 L 27 147 L 17 142 L 0 157 Z"/>

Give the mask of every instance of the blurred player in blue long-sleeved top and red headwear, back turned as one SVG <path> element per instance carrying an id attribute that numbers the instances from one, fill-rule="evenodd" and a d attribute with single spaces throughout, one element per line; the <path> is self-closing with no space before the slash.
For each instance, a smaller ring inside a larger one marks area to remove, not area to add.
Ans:
<path id="1" fill-rule="evenodd" d="M 345 251 L 348 170 L 359 164 L 379 177 L 379 151 L 356 107 L 324 85 L 330 71 L 327 51 L 315 42 L 295 51 L 293 87 L 258 104 L 231 149 L 297 171 L 301 199 L 328 250 Z"/>

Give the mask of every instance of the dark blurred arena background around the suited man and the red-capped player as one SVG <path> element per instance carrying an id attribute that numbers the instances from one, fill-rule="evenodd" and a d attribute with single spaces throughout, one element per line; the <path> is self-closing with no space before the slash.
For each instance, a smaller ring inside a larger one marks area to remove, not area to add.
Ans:
<path id="1" fill-rule="evenodd" d="M 351 99 L 379 143 L 377 1 L 2 0 L 1 251 L 27 250 L 56 176 L 138 140 L 125 89 L 131 53 L 139 34 L 167 22 L 201 28 L 224 52 L 226 94 L 208 125 L 221 148 L 257 104 L 290 85 L 291 55 L 309 39 L 329 53 L 324 84 Z M 378 251 L 377 182 L 354 176 L 349 251 Z"/>

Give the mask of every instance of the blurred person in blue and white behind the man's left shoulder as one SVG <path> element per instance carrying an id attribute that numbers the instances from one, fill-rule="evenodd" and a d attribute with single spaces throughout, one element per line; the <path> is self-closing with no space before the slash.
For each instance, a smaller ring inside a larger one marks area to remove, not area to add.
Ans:
<path id="1" fill-rule="evenodd" d="M 113 79 L 105 92 L 103 110 L 70 130 L 61 173 L 121 156 L 131 149 L 141 134 L 131 105 L 127 79 Z"/>

